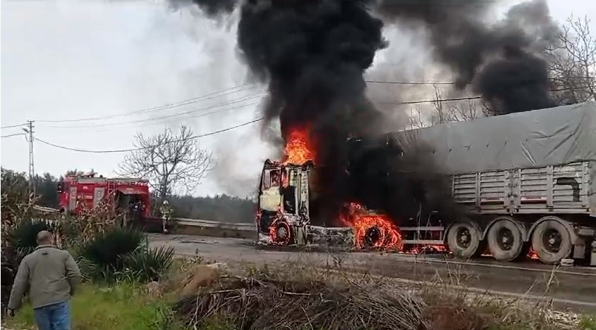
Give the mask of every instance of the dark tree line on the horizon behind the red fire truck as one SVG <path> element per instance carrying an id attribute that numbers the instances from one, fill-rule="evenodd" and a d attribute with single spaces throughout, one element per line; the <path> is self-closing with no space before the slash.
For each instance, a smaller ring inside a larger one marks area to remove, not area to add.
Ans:
<path id="1" fill-rule="evenodd" d="M 3 193 L 11 191 L 11 196 L 28 195 L 28 177 L 24 172 L 1 169 L 1 185 Z M 68 171 L 67 174 L 78 172 Z M 59 208 L 58 182 L 63 177 L 55 177 L 50 173 L 36 174 L 34 179 L 37 203 L 48 208 Z M 26 199 L 26 198 L 25 198 Z M 155 205 L 159 196 L 152 196 L 152 204 Z M 169 196 L 168 201 L 174 208 L 175 217 L 186 217 L 190 219 L 213 220 L 220 222 L 253 222 L 255 215 L 255 203 L 249 198 L 236 196 Z M 152 208 L 157 212 L 157 208 Z"/>

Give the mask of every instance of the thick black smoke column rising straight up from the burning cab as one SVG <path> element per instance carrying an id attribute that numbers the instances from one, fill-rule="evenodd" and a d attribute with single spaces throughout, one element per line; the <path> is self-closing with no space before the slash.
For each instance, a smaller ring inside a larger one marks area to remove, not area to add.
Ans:
<path id="1" fill-rule="evenodd" d="M 306 127 L 316 143 L 321 206 L 315 221 L 336 219 L 349 198 L 348 137 L 367 134 L 379 120 L 365 98 L 363 72 L 387 46 L 382 26 L 367 1 L 247 1 L 241 7 L 238 48 L 269 84 L 264 117 L 279 118 L 284 138 Z"/>

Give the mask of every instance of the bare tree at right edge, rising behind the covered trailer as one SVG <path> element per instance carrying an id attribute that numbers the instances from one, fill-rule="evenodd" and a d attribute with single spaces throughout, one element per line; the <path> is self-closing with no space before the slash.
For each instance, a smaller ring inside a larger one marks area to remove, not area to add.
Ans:
<path id="1" fill-rule="evenodd" d="M 590 33 L 588 17 L 567 18 L 547 56 L 561 103 L 596 100 L 596 38 Z"/>

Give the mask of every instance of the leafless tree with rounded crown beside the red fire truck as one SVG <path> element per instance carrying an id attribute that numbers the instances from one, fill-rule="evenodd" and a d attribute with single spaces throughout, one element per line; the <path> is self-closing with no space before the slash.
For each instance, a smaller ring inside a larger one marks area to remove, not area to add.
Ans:
<path id="1" fill-rule="evenodd" d="M 149 180 L 160 199 L 171 195 L 172 189 L 193 191 L 205 176 L 212 153 L 200 148 L 193 131 L 185 125 L 174 134 L 170 128 L 152 137 L 135 136 L 135 150 L 120 164 L 118 174 L 135 175 Z"/>

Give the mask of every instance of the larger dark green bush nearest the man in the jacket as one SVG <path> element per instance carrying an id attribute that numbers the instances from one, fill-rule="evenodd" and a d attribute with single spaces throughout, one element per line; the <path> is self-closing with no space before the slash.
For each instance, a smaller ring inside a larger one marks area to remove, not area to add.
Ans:
<path id="1" fill-rule="evenodd" d="M 79 266 L 89 279 L 114 281 L 124 270 L 124 257 L 142 246 L 140 231 L 112 228 L 97 234 L 80 248 Z"/>

